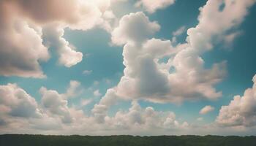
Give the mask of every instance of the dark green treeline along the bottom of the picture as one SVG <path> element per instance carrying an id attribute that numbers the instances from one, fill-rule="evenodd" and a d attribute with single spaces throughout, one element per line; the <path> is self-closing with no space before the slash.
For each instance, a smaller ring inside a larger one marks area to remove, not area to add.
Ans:
<path id="1" fill-rule="evenodd" d="M 256 137 L 0 135 L 0 146 L 256 146 Z"/>

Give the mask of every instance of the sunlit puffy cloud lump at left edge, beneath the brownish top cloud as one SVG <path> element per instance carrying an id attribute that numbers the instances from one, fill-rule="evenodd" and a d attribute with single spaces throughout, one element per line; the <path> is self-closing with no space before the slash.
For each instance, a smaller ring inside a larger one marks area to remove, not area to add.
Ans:
<path id="1" fill-rule="evenodd" d="M 2 11 L 8 7 L 0 5 L 0 9 L 0 75 L 45 77 L 39 62 L 48 61 L 50 55 L 48 48 L 42 45 L 41 28 L 36 29 L 13 15 L 5 16 Z"/>

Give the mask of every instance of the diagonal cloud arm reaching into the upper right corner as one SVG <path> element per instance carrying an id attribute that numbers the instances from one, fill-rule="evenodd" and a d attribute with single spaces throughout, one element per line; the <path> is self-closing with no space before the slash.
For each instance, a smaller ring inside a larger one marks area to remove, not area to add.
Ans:
<path id="1" fill-rule="evenodd" d="M 200 8 L 198 25 L 187 31 L 189 43 L 200 51 L 211 50 L 213 39 L 217 42 L 222 41 L 230 33 L 234 33 L 231 28 L 244 20 L 249 7 L 254 3 L 255 0 L 207 1 L 206 5 Z M 219 9 L 223 4 L 224 8 Z"/>

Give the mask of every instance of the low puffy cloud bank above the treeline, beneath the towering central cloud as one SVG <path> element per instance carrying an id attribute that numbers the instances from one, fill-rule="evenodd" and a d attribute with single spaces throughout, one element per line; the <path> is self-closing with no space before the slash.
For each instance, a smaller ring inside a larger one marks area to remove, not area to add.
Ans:
<path id="1" fill-rule="evenodd" d="M 129 111 L 118 111 L 113 118 L 105 117 L 105 123 L 113 128 L 140 130 L 189 127 L 187 122 L 179 123 L 173 112 L 157 112 L 153 107 L 143 109 L 137 101 L 132 101 Z"/>

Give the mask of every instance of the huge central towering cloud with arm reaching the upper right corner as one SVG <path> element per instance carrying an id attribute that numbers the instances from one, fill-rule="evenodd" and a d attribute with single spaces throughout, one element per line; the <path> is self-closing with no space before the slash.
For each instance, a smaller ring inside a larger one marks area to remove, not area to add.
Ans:
<path id="1" fill-rule="evenodd" d="M 212 50 L 214 44 L 225 41 L 230 33 L 236 33 L 234 28 L 254 3 L 253 0 L 207 1 L 200 8 L 197 26 L 187 30 L 187 42 L 176 46 L 170 40 L 152 38 L 159 25 L 143 12 L 124 15 L 112 33 L 113 44 L 124 44 L 124 76 L 94 105 L 94 115 L 102 122 L 106 110 L 118 99 L 162 103 L 222 96 L 214 85 L 225 77 L 226 61 L 206 69 L 201 55 Z M 237 11 L 233 13 L 233 9 Z M 162 62 L 163 58 L 168 58 L 167 62 Z"/>

